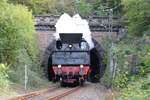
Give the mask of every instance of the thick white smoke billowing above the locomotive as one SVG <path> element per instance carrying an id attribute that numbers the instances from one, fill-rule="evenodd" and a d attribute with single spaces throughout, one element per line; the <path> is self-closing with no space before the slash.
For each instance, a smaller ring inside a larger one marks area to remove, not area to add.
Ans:
<path id="1" fill-rule="evenodd" d="M 56 40 L 60 38 L 60 33 L 82 33 L 82 38 L 87 41 L 90 49 L 94 48 L 88 22 L 85 19 L 82 19 L 79 14 L 71 17 L 67 13 L 64 13 L 57 21 L 55 27 L 56 33 L 54 33 L 54 37 Z"/>

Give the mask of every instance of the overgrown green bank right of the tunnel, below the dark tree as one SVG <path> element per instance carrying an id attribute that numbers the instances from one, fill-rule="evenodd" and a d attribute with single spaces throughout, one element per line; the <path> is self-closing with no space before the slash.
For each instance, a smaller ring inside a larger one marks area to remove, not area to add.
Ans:
<path id="1" fill-rule="evenodd" d="M 150 36 L 124 37 L 113 46 L 106 40 L 104 44 L 108 62 L 101 82 L 121 92 L 117 100 L 149 100 Z"/>

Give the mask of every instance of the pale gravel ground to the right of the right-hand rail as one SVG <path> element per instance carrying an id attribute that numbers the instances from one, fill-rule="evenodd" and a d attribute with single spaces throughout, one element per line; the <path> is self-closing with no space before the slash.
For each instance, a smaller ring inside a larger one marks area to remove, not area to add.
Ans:
<path id="1" fill-rule="evenodd" d="M 108 90 L 100 84 L 85 83 L 84 87 L 60 100 L 107 100 Z"/>

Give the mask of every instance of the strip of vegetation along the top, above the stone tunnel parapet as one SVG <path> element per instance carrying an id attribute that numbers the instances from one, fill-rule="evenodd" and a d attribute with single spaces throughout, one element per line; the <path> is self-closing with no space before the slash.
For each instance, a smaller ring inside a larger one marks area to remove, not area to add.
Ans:
<path id="1" fill-rule="evenodd" d="M 110 7 L 114 10 L 114 15 L 121 16 L 121 0 L 9 0 L 10 3 L 26 5 L 33 11 L 34 15 L 50 14 L 61 15 L 69 13 L 81 16 L 107 16 L 104 11 Z"/>

